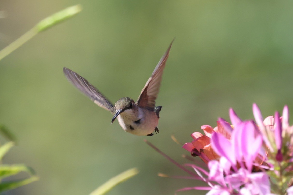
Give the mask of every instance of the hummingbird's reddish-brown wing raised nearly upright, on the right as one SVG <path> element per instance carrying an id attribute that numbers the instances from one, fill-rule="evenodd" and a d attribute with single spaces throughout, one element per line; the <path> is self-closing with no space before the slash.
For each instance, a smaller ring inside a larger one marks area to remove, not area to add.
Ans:
<path id="1" fill-rule="evenodd" d="M 169 56 L 169 51 L 171 49 L 173 41 L 171 42 L 165 54 L 160 59 L 154 72 L 151 74 L 151 77 L 149 77 L 149 80 L 144 85 L 144 88 L 142 89 L 142 92 L 140 93 L 136 102 L 138 106 L 142 108 L 147 108 L 149 110 L 154 110 L 156 104 L 155 100 L 157 99 L 157 95 L 159 93 L 161 85 L 163 69 L 165 68 L 165 64 Z"/>

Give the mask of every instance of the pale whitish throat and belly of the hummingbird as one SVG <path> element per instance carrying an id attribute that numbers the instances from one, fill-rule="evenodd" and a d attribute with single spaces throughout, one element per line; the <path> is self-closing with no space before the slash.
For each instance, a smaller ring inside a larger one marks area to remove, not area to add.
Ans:
<path id="1" fill-rule="evenodd" d="M 137 116 L 131 110 L 125 110 L 117 116 L 118 122 L 122 129 L 134 135 L 148 135 L 154 132 L 158 125 L 158 117 L 156 113 L 149 110 L 138 110 Z M 139 122 L 135 122 L 138 121 Z"/>

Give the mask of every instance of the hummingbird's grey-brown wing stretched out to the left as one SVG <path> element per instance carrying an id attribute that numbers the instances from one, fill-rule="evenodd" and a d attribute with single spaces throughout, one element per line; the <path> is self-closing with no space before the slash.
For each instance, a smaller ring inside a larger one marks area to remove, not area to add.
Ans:
<path id="1" fill-rule="evenodd" d="M 110 111 L 112 114 L 115 114 L 116 109 L 113 104 L 108 101 L 108 99 L 99 92 L 99 90 L 90 84 L 84 77 L 73 72 L 69 68 L 63 68 L 64 75 L 66 78 L 81 92 L 86 94 L 94 103 L 96 103 L 101 108 L 104 108 L 107 111 Z"/>

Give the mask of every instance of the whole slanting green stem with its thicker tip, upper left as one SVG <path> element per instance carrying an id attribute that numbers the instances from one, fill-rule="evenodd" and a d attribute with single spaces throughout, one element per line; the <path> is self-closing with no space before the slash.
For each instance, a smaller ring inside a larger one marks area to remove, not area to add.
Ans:
<path id="1" fill-rule="evenodd" d="M 31 30 L 23 34 L 21 37 L 16 39 L 14 42 L 6 46 L 4 49 L 0 51 L 0 60 L 5 58 L 12 51 L 16 50 L 18 47 L 22 46 L 25 42 L 33 38 L 38 32 L 46 30 L 72 16 L 76 15 L 81 11 L 81 6 L 71 6 L 65 8 L 62 11 L 59 11 L 43 20 L 41 20 L 37 25 L 35 25 Z"/>

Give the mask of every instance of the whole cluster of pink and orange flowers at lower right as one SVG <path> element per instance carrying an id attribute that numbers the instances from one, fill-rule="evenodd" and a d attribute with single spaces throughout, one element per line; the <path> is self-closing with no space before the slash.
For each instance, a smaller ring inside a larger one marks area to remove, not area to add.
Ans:
<path id="1" fill-rule="evenodd" d="M 275 113 L 263 120 L 260 110 L 253 104 L 253 120 L 241 120 L 233 109 L 229 115 L 232 125 L 222 118 L 217 127 L 202 126 L 205 135 L 195 132 L 193 141 L 183 148 L 192 156 L 199 156 L 208 165 L 206 172 L 197 165 L 190 165 L 207 182 L 209 187 L 188 189 L 209 190 L 217 194 L 288 194 L 293 169 L 293 127 L 289 126 L 289 111 L 284 107 L 283 116 Z"/>

